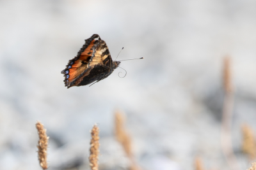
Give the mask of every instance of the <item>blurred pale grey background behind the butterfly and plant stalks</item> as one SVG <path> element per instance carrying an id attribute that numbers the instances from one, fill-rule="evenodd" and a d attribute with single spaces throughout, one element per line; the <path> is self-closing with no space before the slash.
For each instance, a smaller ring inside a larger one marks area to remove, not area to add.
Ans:
<path id="1" fill-rule="evenodd" d="M 90 169 L 90 129 L 100 128 L 100 169 L 129 169 L 115 139 L 122 110 L 145 170 L 228 169 L 220 145 L 223 57 L 234 84 L 232 143 L 256 130 L 256 1 L 0 1 L 0 169 L 41 169 L 36 120 L 47 129 L 49 169 Z M 92 87 L 64 86 L 61 70 L 99 34 L 127 71 Z"/>

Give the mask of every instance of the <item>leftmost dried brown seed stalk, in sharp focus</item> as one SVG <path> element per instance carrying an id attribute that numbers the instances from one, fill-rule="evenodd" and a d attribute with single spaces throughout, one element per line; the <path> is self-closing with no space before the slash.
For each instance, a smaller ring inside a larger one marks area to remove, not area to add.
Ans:
<path id="1" fill-rule="evenodd" d="M 39 141 L 37 146 L 38 160 L 42 169 L 47 169 L 47 146 L 49 137 L 47 137 L 46 129 L 44 129 L 44 125 L 41 124 L 41 122 L 36 122 L 36 129 L 39 135 Z"/>

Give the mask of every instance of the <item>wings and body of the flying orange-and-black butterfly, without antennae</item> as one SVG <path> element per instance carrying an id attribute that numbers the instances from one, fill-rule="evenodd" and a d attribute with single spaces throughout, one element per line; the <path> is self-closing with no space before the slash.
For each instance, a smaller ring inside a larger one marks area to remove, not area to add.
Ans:
<path id="1" fill-rule="evenodd" d="M 66 68 L 61 71 L 67 88 L 103 80 L 120 64 L 120 61 L 112 60 L 108 46 L 98 34 L 93 34 L 85 42 L 77 56 L 69 60 Z"/>

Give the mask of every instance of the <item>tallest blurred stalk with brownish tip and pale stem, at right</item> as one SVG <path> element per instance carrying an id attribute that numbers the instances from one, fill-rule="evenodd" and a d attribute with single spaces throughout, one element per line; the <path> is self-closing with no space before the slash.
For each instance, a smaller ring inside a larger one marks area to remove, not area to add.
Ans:
<path id="1" fill-rule="evenodd" d="M 223 103 L 222 120 L 221 120 L 221 148 L 228 166 L 235 170 L 239 169 L 236 155 L 232 147 L 232 113 L 234 105 L 234 92 L 231 80 L 230 58 L 225 57 L 223 67 L 223 88 L 225 90 L 225 98 Z"/>

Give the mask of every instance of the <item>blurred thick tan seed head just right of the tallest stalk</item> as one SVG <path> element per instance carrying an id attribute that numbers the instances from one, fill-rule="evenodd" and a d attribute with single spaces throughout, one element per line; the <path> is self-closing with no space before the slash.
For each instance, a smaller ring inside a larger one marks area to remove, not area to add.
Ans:
<path id="1" fill-rule="evenodd" d="M 255 145 L 253 129 L 249 125 L 244 124 L 242 126 L 242 133 L 243 133 L 242 150 L 244 153 L 248 155 L 248 157 L 251 160 L 253 160 L 256 158 L 256 145 Z"/>

